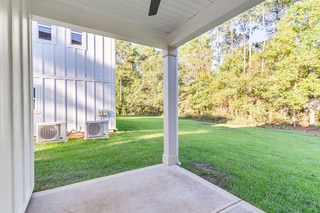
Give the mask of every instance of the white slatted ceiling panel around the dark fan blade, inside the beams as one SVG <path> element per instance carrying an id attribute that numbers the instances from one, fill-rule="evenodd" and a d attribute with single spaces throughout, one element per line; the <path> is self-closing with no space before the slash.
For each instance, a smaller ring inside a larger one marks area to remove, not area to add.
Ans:
<path id="1" fill-rule="evenodd" d="M 53 0 L 119 21 L 170 33 L 215 0 L 161 0 L 148 16 L 150 0 Z"/>

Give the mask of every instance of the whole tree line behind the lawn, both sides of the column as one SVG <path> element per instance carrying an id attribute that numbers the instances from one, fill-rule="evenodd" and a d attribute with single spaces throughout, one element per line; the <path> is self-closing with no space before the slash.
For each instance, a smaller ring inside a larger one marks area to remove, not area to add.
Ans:
<path id="1" fill-rule="evenodd" d="M 117 113 L 161 115 L 162 75 L 161 51 L 117 40 Z M 320 0 L 266 0 L 179 47 L 179 116 L 318 126 L 319 76 Z"/>

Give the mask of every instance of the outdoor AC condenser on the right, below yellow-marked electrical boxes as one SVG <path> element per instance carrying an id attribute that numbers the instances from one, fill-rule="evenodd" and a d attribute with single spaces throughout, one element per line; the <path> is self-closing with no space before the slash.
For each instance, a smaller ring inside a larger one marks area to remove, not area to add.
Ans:
<path id="1" fill-rule="evenodd" d="M 86 121 L 84 124 L 84 139 L 110 138 L 107 121 Z"/>

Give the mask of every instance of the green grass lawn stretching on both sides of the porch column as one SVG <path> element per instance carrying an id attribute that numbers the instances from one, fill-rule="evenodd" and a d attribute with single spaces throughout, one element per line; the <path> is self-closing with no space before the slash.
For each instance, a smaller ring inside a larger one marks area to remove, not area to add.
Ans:
<path id="1" fill-rule="evenodd" d="M 162 121 L 117 116 L 110 139 L 36 144 L 34 191 L 161 163 Z M 179 120 L 179 161 L 266 212 L 320 212 L 320 137 Z"/>

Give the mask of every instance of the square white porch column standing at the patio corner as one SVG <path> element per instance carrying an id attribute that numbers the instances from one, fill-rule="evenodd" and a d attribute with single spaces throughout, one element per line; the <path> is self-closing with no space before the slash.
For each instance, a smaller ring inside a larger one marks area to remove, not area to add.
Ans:
<path id="1" fill-rule="evenodd" d="M 177 48 L 162 49 L 163 57 L 163 155 L 166 165 L 178 164 L 178 63 Z"/>

